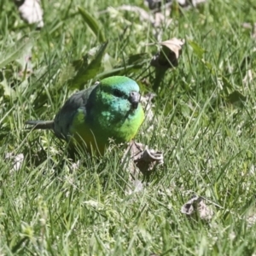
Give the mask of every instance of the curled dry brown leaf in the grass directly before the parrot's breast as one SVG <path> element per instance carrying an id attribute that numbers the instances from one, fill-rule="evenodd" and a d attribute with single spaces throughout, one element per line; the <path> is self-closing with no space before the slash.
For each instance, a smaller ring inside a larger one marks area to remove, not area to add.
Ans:
<path id="1" fill-rule="evenodd" d="M 129 155 L 129 172 L 137 177 L 137 168 L 144 175 L 149 175 L 154 171 L 156 166 L 160 166 L 164 163 L 164 155 L 162 152 L 149 149 L 147 145 L 143 143 L 131 142 L 128 148 L 125 150 L 124 158 Z"/>

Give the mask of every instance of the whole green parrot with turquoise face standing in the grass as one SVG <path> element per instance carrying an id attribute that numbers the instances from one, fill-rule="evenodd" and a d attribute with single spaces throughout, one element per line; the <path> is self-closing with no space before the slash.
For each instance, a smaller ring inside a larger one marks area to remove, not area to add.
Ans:
<path id="1" fill-rule="evenodd" d="M 32 129 L 49 129 L 55 136 L 103 154 L 109 138 L 115 143 L 130 142 L 144 119 L 138 84 L 127 77 L 102 79 L 89 89 L 71 96 L 55 119 L 30 120 Z"/>

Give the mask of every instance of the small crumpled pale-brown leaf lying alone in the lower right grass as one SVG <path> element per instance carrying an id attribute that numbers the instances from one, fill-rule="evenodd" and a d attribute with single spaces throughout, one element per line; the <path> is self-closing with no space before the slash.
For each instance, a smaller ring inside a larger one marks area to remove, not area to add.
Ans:
<path id="1" fill-rule="evenodd" d="M 204 220 L 212 219 L 212 209 L 207 207 L 204 199 L 201 196 L 193 195 L 181 208 L 181 212 L 188 217 L 198 216 Z"/>

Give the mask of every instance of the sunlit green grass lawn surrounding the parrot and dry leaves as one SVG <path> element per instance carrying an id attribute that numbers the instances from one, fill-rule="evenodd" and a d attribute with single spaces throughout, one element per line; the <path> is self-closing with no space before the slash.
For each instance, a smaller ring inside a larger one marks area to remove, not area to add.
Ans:
<path id="1" fill-rule="evenodd" d="M 253 1 L 172 10 L 162 40 L 185 38 L 186 44 L 178 67 L 158 88 L 154 119 L 136 138 L 165 155 L 143 191 L 126 195 L 119 148 L 101 160 L 80 154 L 76 169 L 51 132 L 24 129 L 27 119 L 54 117 L 74 91 L 72 61 L 100 45 L 78 6 L 108 39 L 96 75 L 119 67 L 143 93 L 153 91 L 149 62 L 156 48 L 147 44 L 155 42 L 154 28 L 137 13 L 116 9 L 146 9 L 141 2 L 43 1 L 45 26 L 34 32 L 12 2 L 1 1 L 0 64 L 17 51 L 0 69 L 2 255 L 255 255 L 255 225 L 248 223 L 256 214 L 255 39 L 253 28 L 242 26 L 256 22 Z M 32 61 L 25 63 L 31 48 Z M 125 68 L 129 55 L 142 53 L 140 65 Z M 244 80 L 248 70 L 251 81 Z M 19 171 L 6 153 L 24 155 Z M 195 194 L 207 199 L 210 221 L 181 213 Z"/>

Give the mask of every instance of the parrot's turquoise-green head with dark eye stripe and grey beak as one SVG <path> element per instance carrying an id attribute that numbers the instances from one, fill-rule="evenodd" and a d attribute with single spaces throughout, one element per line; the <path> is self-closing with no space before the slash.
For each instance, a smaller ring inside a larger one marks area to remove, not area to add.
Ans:
<path id="1" fill-rule="evenodd" d="M 140 106 L 138 84 L 127 77 L 113 76 L 102 79 L 98 84 L 98 101 L 102 101 L 104 110 L 119 114 L 135 113 Z"/>

